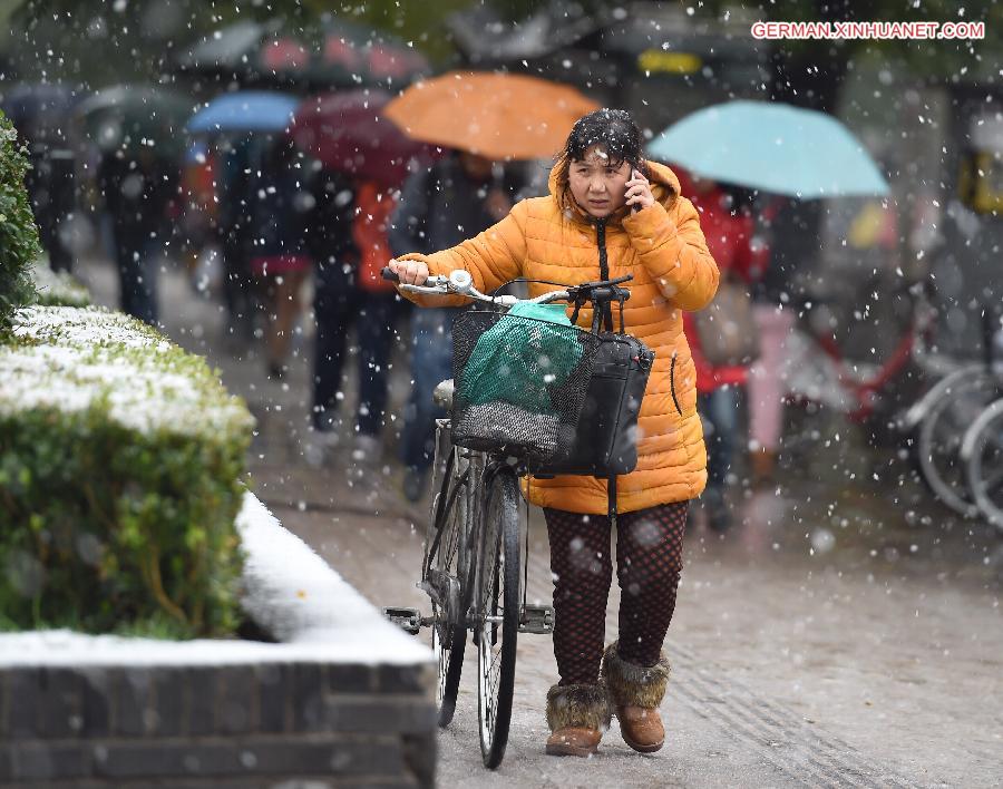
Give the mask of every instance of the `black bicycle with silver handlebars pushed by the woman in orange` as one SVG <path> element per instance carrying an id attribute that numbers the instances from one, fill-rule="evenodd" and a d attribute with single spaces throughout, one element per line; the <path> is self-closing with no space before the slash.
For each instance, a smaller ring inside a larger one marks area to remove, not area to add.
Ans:
<path id="1" fill-rule="evenodd" d="M 387 269 L 383 276 L 399 281 Z M 591 302 L 594 314 L 598 314 L 604 304 L 630 299 L 630 291 L 619 285 L 631 279 L 633 276 L 629 274 L 566 286 L 535 299 L 485 295 L 474 288 L 470 274 L 462 270 L 448 276 L 431 276 L 423 285 L 400 288 L 413 293 L 462 295 L 490 304 L 503 314 L 517 304 L 558 301 L 574 303 L 576 310 Z M 594 323 L 592 333 L 581 329 L 575 331 L 594 337 L 596 325 Z M 458 342 L 455 329 L 455 345 Z M 584 390 L 584 384 L 582 388 Z M 452 380 L 442 381 L 434 394 L 437 405 L 450 416 L 436 423 L 432 489 L 438 493 L 431 504 L 418 583 L 429 596 L 431 615 L 422 616 L 417 608 L 388 607 L 383 611 L 411 634 L 418 634 L 421 627 L 431 630 L 431 646 L 437 660 L 439 727 L 446 727 L 452 720 L 467 632 L 473 632 L 478 653 L 481 759 L 485 767 L 494 769 L 501 763 L 508 742 L 517 636 L 519 633 L 552 633 L 554 610 L 526 602 L 528 504 L 527 517 L 522 518 L 518 478 L 529 473 L 528 456 L 504 445 L 485 445 L 484 448 L 455 445 L 455 396 Z"/>

